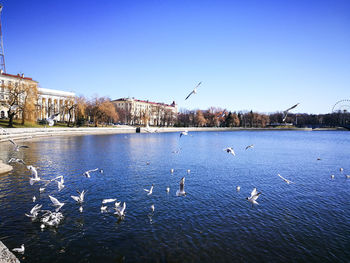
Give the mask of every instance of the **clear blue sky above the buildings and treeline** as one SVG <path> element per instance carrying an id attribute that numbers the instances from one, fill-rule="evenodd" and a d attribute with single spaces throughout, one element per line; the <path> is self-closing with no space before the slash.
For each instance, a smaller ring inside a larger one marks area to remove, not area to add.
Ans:
<path id="1" fill-rule="evenodd" d="M 259 112 L 350 97 L 348 0 L 2 3 L 7 72 L 43 88 Z"/>

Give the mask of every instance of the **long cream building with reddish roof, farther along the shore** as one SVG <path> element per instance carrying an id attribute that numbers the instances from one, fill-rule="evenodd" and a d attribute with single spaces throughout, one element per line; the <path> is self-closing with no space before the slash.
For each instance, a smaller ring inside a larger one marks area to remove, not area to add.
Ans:
<path id="1" fill-rule="evenodd" d="M 177 105 L 121 98 L 113 100 L 120 122 L 129 125 L 173 126 L 177 118 Z"/>

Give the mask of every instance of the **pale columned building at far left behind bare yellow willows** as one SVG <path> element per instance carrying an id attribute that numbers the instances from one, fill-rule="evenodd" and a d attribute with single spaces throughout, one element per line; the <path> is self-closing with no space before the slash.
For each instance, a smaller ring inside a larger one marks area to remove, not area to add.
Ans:
<path id="1" fill-rule="evenodd" d="M 25 77 L 23 74 L 7 74 L 0 71 L 0 118 L 7 118 L 9 109 L 9 87 L 28 86 L 36 89 L 35 110 L 30 112 L 31 119 L 45 120 L 53 114 L 59 113 L 55 118 L 58 121 L 67 121 L 69 118 L 69 109 L 71 109 L 71 121 L 74 121 L 74 109 L 71 107 L 74 103 L 75 94 L 72 92 L 43 89 L 38 87 L 38 82 L 32 78 Z M 20 95 L 24 99 L 24 95 Z M 14 105 L 16 107 L 18 105 Z M 16 118 L 20 118 L 20 112 Z"/>

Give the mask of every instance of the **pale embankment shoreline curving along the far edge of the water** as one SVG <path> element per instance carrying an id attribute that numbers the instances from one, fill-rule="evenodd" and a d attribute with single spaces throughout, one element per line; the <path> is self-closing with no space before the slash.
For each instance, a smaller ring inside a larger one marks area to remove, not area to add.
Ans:
<path id="1" fill-rule="evenodd" d="M 9 139 L 29 140 L 40 137 L 52 136 L 82 136 L 82 135 L 106 135 L 106 134 L 128 134 L 137 133 L 136 127 L 86 127 L 86 128 L 7 128 L 4 129 L 6 134 L 0 134 L 0 143 Z M 163 133 L 163 132 L 181 132 L 187 130 L 194 131 L 210 131 L 210 132 L 225 132 L 225 131 L 346 131 L 342 128 L 219 128 L 219 127 L 164 127 L 164 128 L 140 128 L 140 133 Z"/>

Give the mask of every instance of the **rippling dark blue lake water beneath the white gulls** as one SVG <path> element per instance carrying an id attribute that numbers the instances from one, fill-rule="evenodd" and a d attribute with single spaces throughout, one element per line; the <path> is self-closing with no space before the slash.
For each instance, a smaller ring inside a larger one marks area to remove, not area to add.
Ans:
<path id="1" fill-rule="evenodd" d="M 65 178 L 62 191 L 51 183 L 39 194 L 43 183 L 31 186 L 20 164 L 0 176 L 1 241 L 10 249 L 23 243 L 23 262 L 350 261 L 349 132 L 189 134 L 45 138 L 22 142 L 30 149 L 19 153 L 0 144 L 2 160 L 17 156 L 43 179 Z M 97 167 L 104 173 L 81 175 Z M 177 197 L 183 176 L 187 195 Z M 254 187 L 262 194 L 253 206 L 246 197 Z M 82 213 L 70 197 L 76 190 L 87 190 Z M 34 195 L 54 210 L 49 194 L 65 203 L 65 218 L 41 230 L 24 213 Z M 104 198 L 126 202 L 123 220 L 100 212 Z"/>

